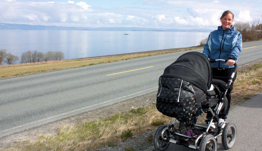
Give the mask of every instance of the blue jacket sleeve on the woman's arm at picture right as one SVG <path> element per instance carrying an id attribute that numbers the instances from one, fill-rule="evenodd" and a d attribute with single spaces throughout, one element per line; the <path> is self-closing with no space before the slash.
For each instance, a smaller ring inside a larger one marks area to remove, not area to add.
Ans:
<path id="1" fill-rule="evenodd" d="M 237 60 L 237 57 L 242 51 L 242 35 L 240 32 L 236 34 L 232 41 L 232 50 L 229 59 Z"/>

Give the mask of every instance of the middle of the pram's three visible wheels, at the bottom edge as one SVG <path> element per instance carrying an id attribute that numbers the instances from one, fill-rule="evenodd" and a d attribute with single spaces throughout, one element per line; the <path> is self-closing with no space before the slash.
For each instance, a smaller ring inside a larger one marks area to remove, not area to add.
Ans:
<path id="1" fill-rule="evenodd" d="M 200 142 L 199 151 L 217 151 L 217 141 L 212 135 L 206 135 Z"/>

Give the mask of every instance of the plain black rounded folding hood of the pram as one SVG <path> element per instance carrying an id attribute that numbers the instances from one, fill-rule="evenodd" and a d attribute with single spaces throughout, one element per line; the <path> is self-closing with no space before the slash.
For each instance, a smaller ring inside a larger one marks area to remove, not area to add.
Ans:
<path id="1" fill-rule="evenodd" d="M 207 93 L 211 87 L 212 69 L 202 53 L 188 52 L 166 67 L 162 76 L 184 79 Z"/>

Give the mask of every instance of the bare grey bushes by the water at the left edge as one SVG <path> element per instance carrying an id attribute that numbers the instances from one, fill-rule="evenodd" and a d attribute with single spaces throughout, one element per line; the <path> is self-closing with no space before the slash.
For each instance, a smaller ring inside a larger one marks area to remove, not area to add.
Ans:
<path id="1" fill-rule="evenodd" d="M 65 55 L 61 51 L 48 51 L 47 53 L 38 52 L 37 50 L 34 51 L 27 51 L 22 53 L 20 63 L 36 63 L 36 62 L 46 62 L 52 60 L 62 60 L 64 59 Z M 13 55 L 11 53 L 7 53 L 6 49 L 0 50 L 0 66 L 3 63 L 7 64 L 14 64 L 19 57 Z"/>

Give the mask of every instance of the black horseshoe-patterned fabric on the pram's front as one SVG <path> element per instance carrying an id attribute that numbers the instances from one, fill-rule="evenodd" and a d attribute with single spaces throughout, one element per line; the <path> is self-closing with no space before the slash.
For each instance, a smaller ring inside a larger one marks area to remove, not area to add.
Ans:
<path id="1" fill-rule="evenodd" d="M 200 114 L 201 104 L 191 83 L 172 77 L 160 77 L 157 109 L 169 117 L 191 123 Z"/>

